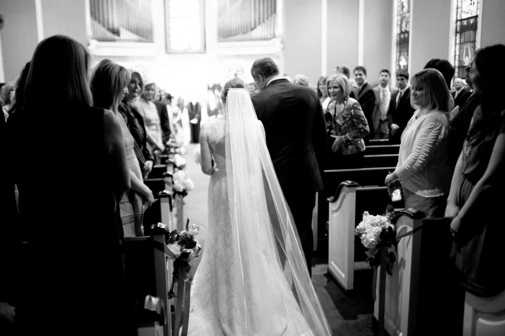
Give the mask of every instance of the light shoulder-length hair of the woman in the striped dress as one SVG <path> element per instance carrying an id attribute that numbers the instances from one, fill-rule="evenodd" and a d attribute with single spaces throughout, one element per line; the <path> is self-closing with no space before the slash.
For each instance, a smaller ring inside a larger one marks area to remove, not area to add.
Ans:
<path id="1" fill-rule="evenodd" d="M 98 63 L 91 74 L 90 82 L 94 106 L 116 109 L 130 78 L 126 68 L 111 60 L 105 59 Z"/>

